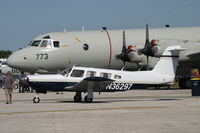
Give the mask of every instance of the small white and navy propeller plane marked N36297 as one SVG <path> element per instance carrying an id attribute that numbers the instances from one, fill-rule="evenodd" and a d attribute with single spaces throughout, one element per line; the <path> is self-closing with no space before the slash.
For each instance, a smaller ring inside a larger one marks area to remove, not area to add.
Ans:
<path id="1" fill-rule="evenodd" d="M 80 102 L 81 92 L 87 92 L 85 102 L 93 101 L 93 92 L 126 91 L 134 88 L 169 86 L 174 82 L 180 46 L 167 47 L 151 71 L 119 71 L 88 67 L 73 67 L 66 75 L 29 75 L 29 85 L 37 93 L 47 91 L 73 91 L 75 102 Z M 39 103 L 38 96 L 34 103 Z"/>

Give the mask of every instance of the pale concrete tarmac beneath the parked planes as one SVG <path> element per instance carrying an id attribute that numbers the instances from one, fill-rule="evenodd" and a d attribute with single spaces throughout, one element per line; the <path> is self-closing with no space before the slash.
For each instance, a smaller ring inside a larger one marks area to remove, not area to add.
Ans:
<path id="1" fill-rule="evenodd" d="M 84 97 L 85 94 L 83 94 Z M 74 103 L 74 93 L 13 94 L 0 90 L 1 133 L 199 133 L 200 97 L 191 90 L 95 93 L 93 103 Z"/>

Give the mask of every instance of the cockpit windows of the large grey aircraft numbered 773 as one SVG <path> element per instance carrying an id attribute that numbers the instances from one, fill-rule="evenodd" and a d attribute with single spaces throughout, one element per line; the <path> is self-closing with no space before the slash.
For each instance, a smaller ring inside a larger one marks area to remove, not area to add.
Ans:
<path id="1" fill-rule="evenodd" d="M 29 44 L 30 47 L 43 47 L 43 48 L 59 48 L 59 41 L 54 41 L 52 39 L 43 39 L 43 40 L 33 40 Z"/>

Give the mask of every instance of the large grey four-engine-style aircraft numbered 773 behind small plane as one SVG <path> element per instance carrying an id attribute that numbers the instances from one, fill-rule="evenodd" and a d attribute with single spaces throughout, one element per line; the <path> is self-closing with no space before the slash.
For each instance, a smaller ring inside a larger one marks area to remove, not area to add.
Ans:
<path id="1" fill-rule="evenodd" d="M 146 33 L 146 39 L 145 39 Z M 42 34 L 13 53 L 8 65 L 27 72 L 56 73 L 73 65 L 130 70 L 152 69 L 168 46 L 187 48 L 180 54 L 180 87 L 200 66 L 200 27 L 53 32 Z M 145 42 L 146 41 L 146 42 Z"/>

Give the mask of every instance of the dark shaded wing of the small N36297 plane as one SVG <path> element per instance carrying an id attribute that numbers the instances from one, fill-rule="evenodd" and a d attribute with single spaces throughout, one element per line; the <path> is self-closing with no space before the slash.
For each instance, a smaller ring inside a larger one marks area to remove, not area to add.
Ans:
<path id="1" fill-rule="evenodd" d="M 104 77 L 88 77 L 77 83 L 75 86 L 65 87 L 67 91 L 81 91 L 87 92 L 91 87 L 94 92 L 102 91 L 111 84 L 114 80 Z"/>

